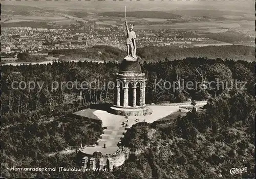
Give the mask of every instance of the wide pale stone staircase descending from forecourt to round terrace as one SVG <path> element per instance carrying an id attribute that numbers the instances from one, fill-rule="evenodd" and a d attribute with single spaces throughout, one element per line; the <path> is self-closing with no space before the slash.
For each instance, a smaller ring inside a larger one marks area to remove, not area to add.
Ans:
<path id="1" fill-rule="evenodd" d="M 103 130 L 103 134 L 100 135 L 100 139 L 97 141 L 99 146 L 116 147 L 118 142 L 124 136 L 126 130 L 122 126 L 106 126 Z"/>

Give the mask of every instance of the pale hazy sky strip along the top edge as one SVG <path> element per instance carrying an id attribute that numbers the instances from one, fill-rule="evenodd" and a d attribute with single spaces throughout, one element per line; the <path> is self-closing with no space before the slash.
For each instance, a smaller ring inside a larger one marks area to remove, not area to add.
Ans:
<path id="1" fill-rule="evenodd" d="M 58 0 L 58 1 L 1 1 L 2 10 L 4 5 L 23 5 L 23 6 L 34 6 L 44 7 L 48 9 L 79 9 L 84 11 L 124 11 L 126 6 L 127 11 L 173 11 L 173 10 L 191 10 L 191 9 L 209 9 L 209 10 L 228 10 L 228 11 L 240 11 L 254 13 L 254 1 L 253 0 L 182 0 L 182 1 L 168 1 L 168 0 L 141 0 L 141 1 L 78 1 L 78 0 Z"/>

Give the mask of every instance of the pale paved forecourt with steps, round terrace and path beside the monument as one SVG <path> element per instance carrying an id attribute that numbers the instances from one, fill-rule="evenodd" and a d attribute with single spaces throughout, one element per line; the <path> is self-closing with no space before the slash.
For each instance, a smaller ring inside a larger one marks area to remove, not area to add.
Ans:
<path id="1" fill-rule="evenodd" d="M 148 107 L 153 111 L 151 115 L 129 116 L 128 119 L 125 119 L 124 116 L 111 114 L 102 110 L 96 110 L 93 114 L 102 121 L 102 126 L 106 127 L 106 129 L 104 129 L 103 134 L 100 135 L 100 139 L 97 141 L 98 145 L 93 147 L 83 147 L 81 148 L 81 151 L 86 154 L 93 154 L 95 151 L 100 151 L 103 155 L 114 154 L 119 148 L 117 146 L 118 142 L 120 142 L 126 132 L 125 127 L 122 125 L 123 122 L 127 122 L 129 127 L 143 121 L 152 123 L 178 111 L 178 109 L 188 112 L 189 110 L 179 108 L 179 106 L 183 105 L 184 103 L 173 106 L 149 105 Z M 200 104 L 200 106 L 203 106 L 203 104 Z M 75 114 L 84 116 L 83 112 Z M 105 148 L 103 147 L 104 145 Z"/>

